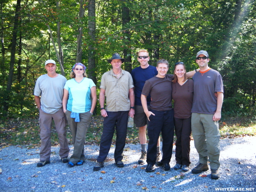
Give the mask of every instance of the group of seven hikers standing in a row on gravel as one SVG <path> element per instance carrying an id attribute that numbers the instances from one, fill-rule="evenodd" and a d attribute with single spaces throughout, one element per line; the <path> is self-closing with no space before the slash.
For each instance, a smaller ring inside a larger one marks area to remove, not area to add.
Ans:
<path id="1" fill-rule="evenodd" d="M 173 169 L 187 172 L 191 163 L 189 153 L 192 132 L 199 161 L 191 172 L 196 174 L 207 171 L 209 161 L 211 178 L 218 179 L 218 121 L 221 118 L 223 83 L 220 73 L 208 66 L 208 52 L 201 50 L 196 53 L 199 69 L 186 72 L 185 64 L 177 62 L 173 75 L 167 74 L 167 60 L 158 60 L 156 67 L 149 65 L 150 57 L 145 49 L 138 52 L 137 59 L 140 66 L 131 73 L 122 69 L 125 60 L 118 53 L 108 59 L 112 69 L 101 78 L 99 103 L 104 121 L 99 156 L 93 170 L 99 171 L 104 167 L 115 130 L 115 163 L 117 167 L 124 167 L 122 154 L 130 116 L 134 117 L 134 124 L 139 129 L 141 154 L 138 164 L 147 163 L 146 172 L 154 171 L 155 164 L 163 166 L 165 171 L 171 169 L 174 131 L 177 140 L 176 165 Z M 96 85 L 92 79 L 87 78 L 86 67 L 82 63 L 72 67 L 71 79 L 68 81 L 56 73 L 54 60 L 47 60 L 45 69 L 47 74 L 37 79 L 34 91 L 41 129 L 40 162 L 37 166 L 50 163 L 52 119 L 60 141 L 61 161 L 69 167 L 83 165 L 85 135 L 97 101 Z M 69 159 L 66 119 L 74 144 Z"/>

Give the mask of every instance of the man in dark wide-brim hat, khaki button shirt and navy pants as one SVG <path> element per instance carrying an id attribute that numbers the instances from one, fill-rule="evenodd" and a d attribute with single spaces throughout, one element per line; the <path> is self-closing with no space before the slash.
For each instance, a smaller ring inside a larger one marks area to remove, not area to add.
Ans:
<path id="1" fill-rule="evenodd" d="M 94 171 L 104 167 L 114 132 L 116 130 L 116 148 L 114 153 L 117 167 L 123 167 L 123 150 L 127 134 L 128 116 L 134 116 L 134 92 L 132 76 L 121 69 L 124 59 L 114 53 L 111 59 L 112 69 L 103 74 L 100 85 L 100 111 L 104 117 L 103 132 L 100 140 L 100 154 Z M 104 108 L 106 97 L 106 108 Z"/>

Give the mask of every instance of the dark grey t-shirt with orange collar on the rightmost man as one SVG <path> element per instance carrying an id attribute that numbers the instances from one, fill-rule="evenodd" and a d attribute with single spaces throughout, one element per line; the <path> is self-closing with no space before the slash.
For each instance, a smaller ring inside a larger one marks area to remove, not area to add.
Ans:
<path id="1" fill-rule="evenodd" d="M 214 92 L 223 92 L 223 83 L 220 73 L 210 69 L 204 73 L 195 73 L 194 98 L 192 113 L 214 114 L 217 109 L 217 98 Z"/>

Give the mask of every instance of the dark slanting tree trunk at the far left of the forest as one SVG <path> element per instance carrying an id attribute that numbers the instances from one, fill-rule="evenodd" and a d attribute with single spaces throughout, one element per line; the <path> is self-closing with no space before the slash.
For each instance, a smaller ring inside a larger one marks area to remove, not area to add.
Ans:
<path id="1" fill-rule="evenodd" d="M 16 41 L 17 41 L 17 33 L 19 28 L 19 17 L 20 17 L 20 1 L 17 0 L 16 9 L 15 9 L 15 16 L 14 16 L 14 23 L 13 23 L 13 31 L 12 31 L 12 47 L 11 47 L 11 59 L 10 59 L 10 68 L 9 68 L 9 76 L 6 86 L 6 95 L 4 98 L 4 111 L 5 116 L 7 115 L 8 108 L 9 108 L 9 98 L 12 88 L 12 77 L 13 77 L 13 70 L 14 70 L 14 63 L 15 63 L 15 51 L 16 51 Z"/>

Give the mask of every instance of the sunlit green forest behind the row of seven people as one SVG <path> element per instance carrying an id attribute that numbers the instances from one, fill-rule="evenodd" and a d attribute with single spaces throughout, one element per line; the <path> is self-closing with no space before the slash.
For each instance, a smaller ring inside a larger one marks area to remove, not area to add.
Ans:
<path id="1" fill-rule="evenodd" d="M 123 69 L 139 66 L 147 49 L 149 64 L 182 61 L 198 68 L 196 52 L 209 53 L 209 66 L 224 84 L 224 118 L 256 114 L 256 2 L 253 0 L 1 0 L 0 116 L 35 117 L 36 79 L 53 59 L 69 79 L 76 62 L 97 85 L 114 52 Z M 100 115 L 97 104 L 95 114 Z"/>

